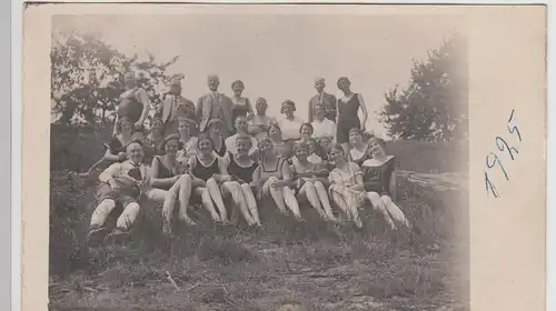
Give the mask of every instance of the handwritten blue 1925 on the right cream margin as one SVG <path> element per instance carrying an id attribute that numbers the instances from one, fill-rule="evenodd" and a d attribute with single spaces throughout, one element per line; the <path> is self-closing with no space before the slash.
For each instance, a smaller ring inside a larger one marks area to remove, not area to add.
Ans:
<path id="1" fill-rule="evenodd" d="M 515 112 L 515 110 L 512 110 L 512 113 L 509 114 L 507 129 L 508 129 L 509 134 L 515 134 L 517 137 L 518 142 L 520 142 L 522 141 L 522 133 L 519 132 L 519 128 L 514 122 L 514 112 Z M 507 153 L 512 161 L 514 161 L 516 159 L 516 156 L 519 153 L 518 149 L 514 146 L 509 146 L 505 138 L 498 136 L 498 137 L 496 137 L 495 142 L 496 142 L 496 147 L 498 148 L 498 150 L 500 152 L 504 152 L 503 154 Z M 506 180 L 509 180 L 509 174 L 506 171 L 506 169 L 504 168 L 503 161 L 497 153 L 495 153 L 495 152 L 488 153 L 486 156 L 485 162 L 486 162 L 486 168 L 485 168 L 486 192 L 487 192 L 487 194 L 493 194 L 494 198 L 499 198 L 500 195 L 499 195 L 498 191 L 496 190 L 496 187 L 494 185 L 494 183 L 488 178 L 488 173 L 495 172 L 495 168 L 498 167 L 499 172 L 502 172 L 502 174 L 504 175 L 504 178 Z"/>

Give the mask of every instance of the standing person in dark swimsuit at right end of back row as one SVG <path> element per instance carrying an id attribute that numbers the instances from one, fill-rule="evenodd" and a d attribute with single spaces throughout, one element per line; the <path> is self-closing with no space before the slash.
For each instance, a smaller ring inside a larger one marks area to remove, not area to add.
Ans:
<path id="1" fill-rule="evenodd" d="M 351 82 L 346 77 L 338 79 L 338 89 L 344 97 L 338 100 L 338 122 L 336 127 L 336 142 L 341 144 L 346 153 L 349 152 L 349 130 L 358 128 L 365 130 L 367 123 L 367 106 L 359 93 L 354 93 L 349 87 Z M 363 112 L 363 122 L 359 120 L 359 109 Z"/>

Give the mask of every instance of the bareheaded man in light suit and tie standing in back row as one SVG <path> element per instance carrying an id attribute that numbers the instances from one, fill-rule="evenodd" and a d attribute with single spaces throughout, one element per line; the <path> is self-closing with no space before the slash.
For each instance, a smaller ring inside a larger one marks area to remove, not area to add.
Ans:
<path id="1" fill-rule="evenodd" d="M 202 96 L 197 101 L 196 116 L 199 120 L 199 131 L 203 132 L 210 120 L 220 119 L 225 124 L 222 136 L 227 138 L 234 132 L 234 124 L 231 123 L 231 100 L 227 96 L 218 92 L 220 80 L 217 76 L 209 76 L 207 82 L 210 93 Z"/>

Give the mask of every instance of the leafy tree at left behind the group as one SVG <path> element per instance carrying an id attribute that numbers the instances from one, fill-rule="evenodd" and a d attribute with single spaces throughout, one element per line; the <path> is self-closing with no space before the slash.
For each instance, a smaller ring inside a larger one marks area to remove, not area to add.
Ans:
<path id="1" fill-rule="evenodd" d="M 149 93 L 153 107 L 159 104 L 159 90 L 171 78 L 166 70 L 179 58 L 160 62 L 148 53 L 148 60 L 139 61 L 137 54 L 127 57 L 97 34 L 59 29 L 53 33 L 50 96 L 59 124 L 106 126 L 113 119 L 118 98 L 123 92 L 123 73 L 128 70 L 139 72 L 139 83 Z"/>

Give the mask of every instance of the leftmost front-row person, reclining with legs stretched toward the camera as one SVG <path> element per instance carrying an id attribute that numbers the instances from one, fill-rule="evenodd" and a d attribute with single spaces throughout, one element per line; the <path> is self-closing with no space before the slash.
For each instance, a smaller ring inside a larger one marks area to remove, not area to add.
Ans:
<path id="1" fill-rule="evenodd" d="M 152 172 L 148 165 L 141 163 L 143 158 L 142 142 L 131 141 L 127 146 L 128 160 L 113 163 L 106 169 L 99 180 L 101 188 L 98 193 L 98 207 L 91 215 L 88 241 L 100 242 L 106 238 L 108 229 L 105 225 L 110 212 L 117 203 L 121 203 L 123 211 L 116 222 L 116 229 L 109 238 L 112 242 L 123 242 L 139 214 L 139 201 L 162 205 L 167 191 L 152 188 Z"/>

